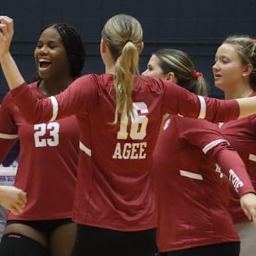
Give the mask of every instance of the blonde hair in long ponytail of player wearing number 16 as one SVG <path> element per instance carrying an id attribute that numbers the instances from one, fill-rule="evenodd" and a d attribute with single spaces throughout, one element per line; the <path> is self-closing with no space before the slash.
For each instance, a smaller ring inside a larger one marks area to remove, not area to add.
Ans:
<path id="1" fill-rule="evenodd" d="M 102 39 L 110 49 L 115 63 L 114 91 L 116 107 L 114 122 L 118 114 L 133 114 L 132 90 L 134 78 L 139 75 L 139 50 L 142 50 L 142 26 L 136 18 L 119 14 L 107 21 L 102 30 Z"/>

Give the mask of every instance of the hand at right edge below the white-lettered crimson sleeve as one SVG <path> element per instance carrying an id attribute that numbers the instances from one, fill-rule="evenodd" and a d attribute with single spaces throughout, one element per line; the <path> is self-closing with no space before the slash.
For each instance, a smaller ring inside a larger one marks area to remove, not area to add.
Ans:
<path id="1" fill-rule="evenodd" d="M 241 196 L 240 204 L 242 210 L 249 220 L 252 220 L 256 226 L 256 195 L 255 193 L 246 193 Z"/>

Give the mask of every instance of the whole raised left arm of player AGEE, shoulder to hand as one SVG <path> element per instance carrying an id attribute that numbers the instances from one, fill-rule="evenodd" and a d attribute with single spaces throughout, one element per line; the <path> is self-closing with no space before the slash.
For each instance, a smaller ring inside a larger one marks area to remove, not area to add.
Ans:
<path id="1" fill-rule="evenodd" d="M 9 84 L 12 99 L 18 105 L 26 121 L 35 124 L 68 117 L 72 114 L 85 116 L 91 100 L 92 75 L 75 80 L 72 88 L 69 86 L 65 93 L 39 100 L 33 90 L 26 86 L 26 82 L 9 52 L 14 35 L 14 21 L 7 16 L 0 16 L 0 29 L 1 68 Z"/>

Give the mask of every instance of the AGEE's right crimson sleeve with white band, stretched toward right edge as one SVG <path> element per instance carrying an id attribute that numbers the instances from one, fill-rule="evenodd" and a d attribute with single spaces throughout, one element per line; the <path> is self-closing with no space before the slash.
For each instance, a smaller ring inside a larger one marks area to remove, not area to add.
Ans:
<path id="1" fill-rule="evenodd" d="M 238 119 L 240 108 L 236 100 L 218 100 L 188 92 L 181 86 L 162 80 L 164 85 L 164 109 L 169 114 L 224 122 Z"/>

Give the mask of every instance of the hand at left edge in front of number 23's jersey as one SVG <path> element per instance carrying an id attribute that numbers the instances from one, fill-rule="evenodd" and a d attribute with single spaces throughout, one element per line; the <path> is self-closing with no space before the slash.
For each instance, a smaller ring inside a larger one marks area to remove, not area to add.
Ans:
<path id="1" fill-rule="evenodd" d="M 0 186 L 0 203 L 4 208 L 18 215 L 26 206 L 26 193 L 15 186 Z"/>

